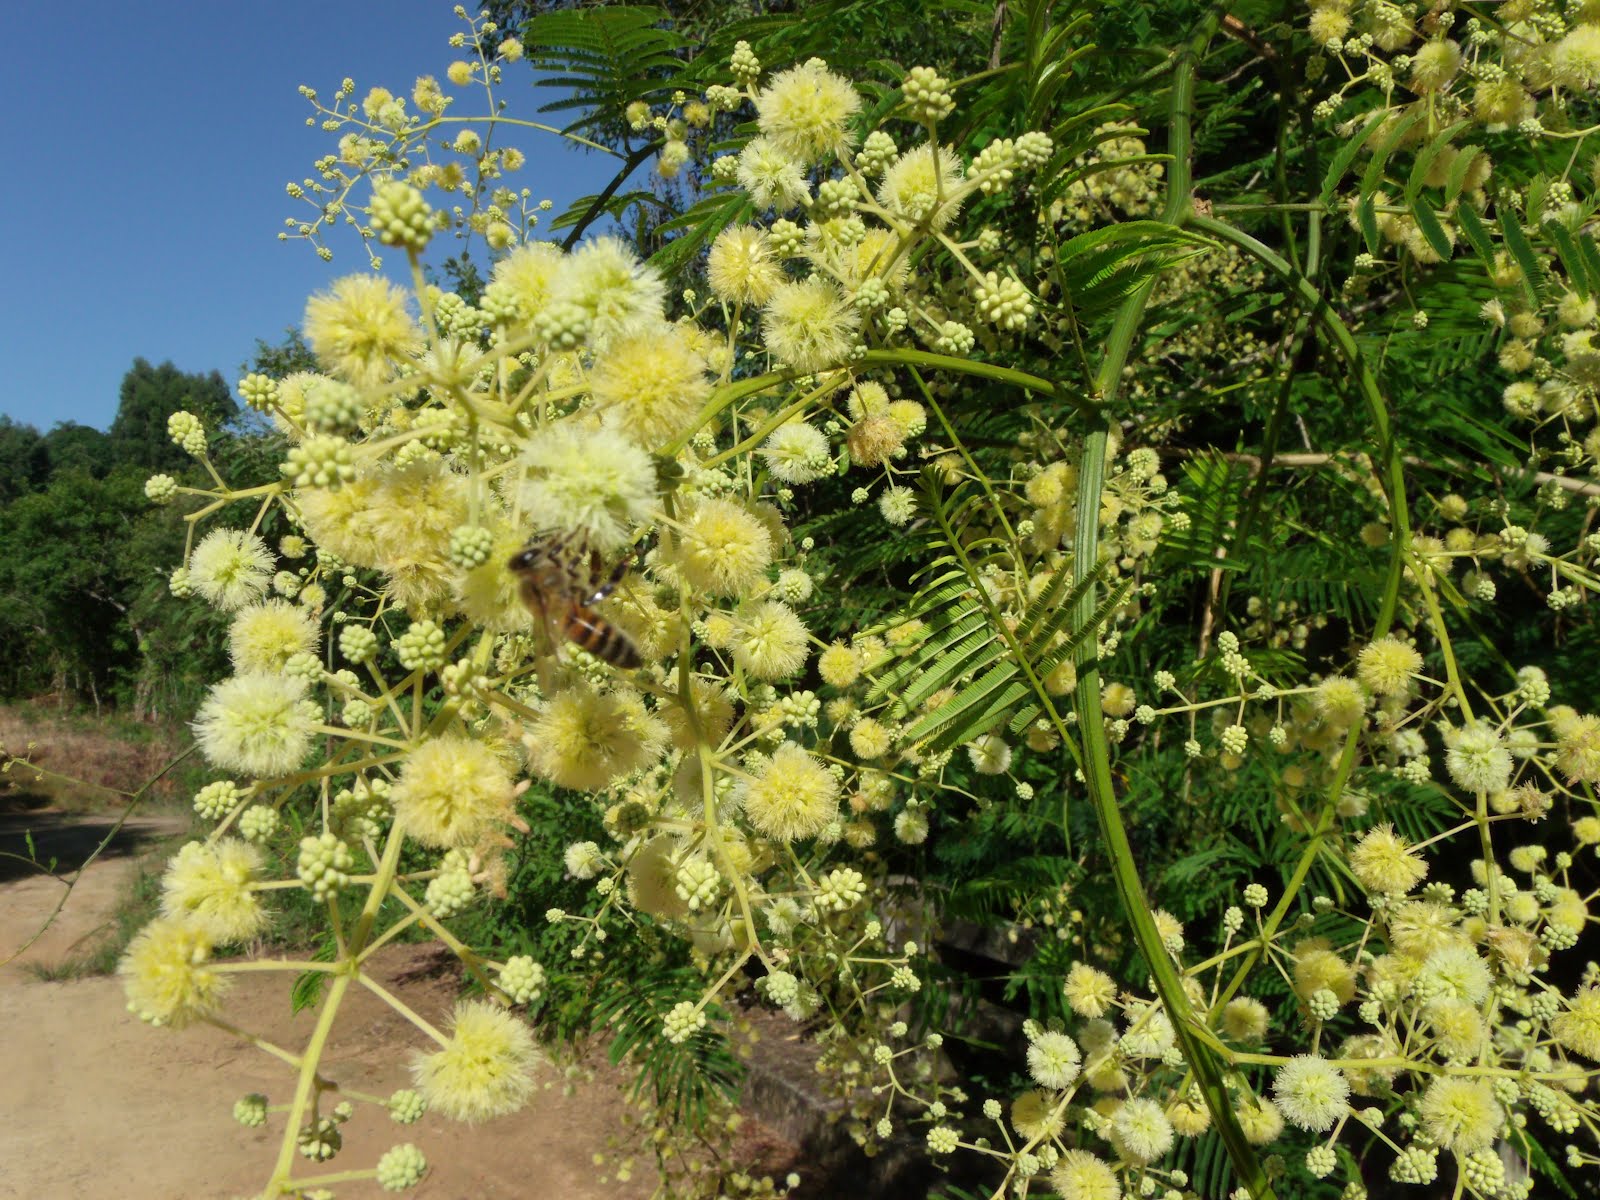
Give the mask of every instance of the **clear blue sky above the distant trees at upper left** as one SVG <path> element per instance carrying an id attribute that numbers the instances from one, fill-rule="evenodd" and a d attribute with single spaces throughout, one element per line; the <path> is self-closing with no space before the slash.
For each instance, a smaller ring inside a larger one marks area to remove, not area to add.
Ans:
<path id="1" fill-rule="evenodd" d="M 298 86 L 326 101 L 346 75 L 357 98 L 374 85 L 410 96 L 418 75 L 445 83 L 461 56 L 448 38 L 464 29 L 451 10 L 451 0 L 6 5 L 0 413 L 40 429 L 104 429 L 136 357 L 218 370 L 232 384 L 258 338 L 277 342 L 310 293 L 365 270 L 350 230 L 331 235 L 333 262 L 277 240 L 306 208 L 285 184 L 334 146 L 306 125 L 312 109 Z M 467 112 L 466 94 L 446 90 L 462 96 L 451 114 Z M 555 93 L 533 88 L 526 67 L 507 70 L 501 94 L 509 115 L 563 123 L 536 114 Z M 554 213 L 598 190 L 616 162 L 552 134 L 517 144 L 528 165 L 514 186 L 550 198 Z M 386 267 L 402 266 L 386 254 Z"/>

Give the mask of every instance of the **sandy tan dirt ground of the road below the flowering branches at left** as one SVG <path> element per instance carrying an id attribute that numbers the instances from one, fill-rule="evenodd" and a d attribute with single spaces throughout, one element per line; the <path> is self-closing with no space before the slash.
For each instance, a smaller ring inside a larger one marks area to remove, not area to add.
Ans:
<path id="1" fill-rule="evenodd" d="M 16 848 L 22 827 L 35 830 L 42 858 L 62 862 L 109 822 L 48 813 L 0 814 L 0 848 Z M 0 966 L 0 1198 L 13 1200 L 210 1200 L 254 1195 L 270 1174 L 282 1117 L 246 1130 L 232 1104 L 250 1091 L 288 1102 L 290 1069 L 211 1027 L 150 1029 L 123 1008 L 115 978 L 38 982 L 26 963 L 66 958 L 82 939 L 104 930 L 106 917 L 134 870 L 136 854 L 171 822 L 139 821 L 115 853 L 93 864 L 67 907 L 21 958 Z M 11 834 L 11 837 L 6 837 Z M 0 958 L 45 922 L 61 885 L 0 859 Z M 386 986 L 435 1022 L 450 1010 L 454 986 L 418 978 L 416 949 L 379 957 Z M 286 973 L 235 976 L 226 1016 L 277 1045 L 304 1043 L 315 1013 L 290 1014 Z M 410 1083 L 406 1059 L 418 1034 L 365 989 L 352 989 L 323 1075 L 344 1086 L 387 1096 Z M 298 1158 L 302 1174 L 371 1166 L 398 1142 L 416 1142 L 429 1176 L 406 1195 L 432 1200 L 518 1197 L 552 1200 L 650 1194 L 654 1171 L 640 1163 L 630 1182 L 595 1166 L 608 1136 L 627 1150 L 637 1142 L 622 1126 L 622 1080 L 603 1064 L 594 1078 L 563 1094 L 554 1067 L 520 1114 L 469 1128 L 427 1115 L 394 1125 L 371 1106 L 357 1106 L 344 1125 L 344 1152 L 323 1166 Z M 614 1157 L 611 1158 L 614 1162 Z M 342 1184 L 341 1200 L 386 1195 L 376 1182 Z"/>

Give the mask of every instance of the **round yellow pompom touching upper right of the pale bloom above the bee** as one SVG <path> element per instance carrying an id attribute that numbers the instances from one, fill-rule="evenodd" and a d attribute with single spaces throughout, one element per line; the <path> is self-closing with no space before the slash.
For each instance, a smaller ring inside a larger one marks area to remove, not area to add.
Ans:
<path id="1" fill-rule="evenodd" d="M 683 434 L 710 395 L 706 360 L 683 325 L 646 325 L 616 338 L 589 376 L 605 422 L 646 450 Z"/>

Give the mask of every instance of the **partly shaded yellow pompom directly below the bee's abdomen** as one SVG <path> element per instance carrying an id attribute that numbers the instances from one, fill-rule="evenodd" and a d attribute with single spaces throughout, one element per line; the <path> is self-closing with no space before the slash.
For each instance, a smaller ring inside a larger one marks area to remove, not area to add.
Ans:
<path id="1" fill-rule="evenodd" d="M 632 691 L 558 691 L 528 726 L 533 770 L 554 784 L 597 792 L 661 757 L 667 731 Z"/>

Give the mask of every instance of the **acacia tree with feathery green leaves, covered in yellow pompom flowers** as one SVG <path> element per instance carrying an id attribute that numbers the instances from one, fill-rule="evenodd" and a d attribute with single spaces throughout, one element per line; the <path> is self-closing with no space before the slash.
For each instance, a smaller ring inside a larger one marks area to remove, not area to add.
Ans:
<path id="1" fill-rule="evenodd" d="M 357 986 L 430 1045 L 398 1120 L 515 1109 L 526 1003 L 611 1029 L 693 1138 L 754 1002 L 858 1139 L 910 1128 L 995 1200 L 1563 1179 L 1600 1117 L 1600 26 L 1115 11 L 1136 62 L 1040 0 L 981 14 L 963 78 L 560 26 L 658 66 L 627 104 L 667 170 L 709 160 L 648 264 L 528 235 L 520 118 L 309 93 L 339 152 L 298 232 L 354 210 L 411 286 L 339 280 L 320 373 L 242 382 L 275 477 L 149 486 L 254 515 L 173 576 L 229 614 L 224 778 L 123 963 L 146 1019 L 221 1022 L 264 963 L 213 947 L 282 888 L 325 912 L 266 1195 L 424 1170 L 294 1171 L 352 1118 L 320 1061 Z M 469 29 L 462 98 L 526 50 Z M 475 302 L 427 286 L 445 229 L 504 251 Z M 213 472 L 198 416 L 171 435 Z M 467 939 L 472 906 L 509 920 Z M 933 1061 L 954 917 L 1043 931 L 1010 1075 Z M 445 1030 L 366 973 L 413 928 L 485 997 Z"/>

